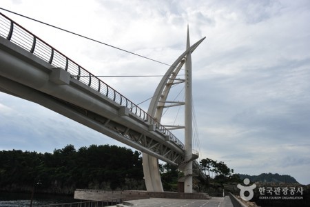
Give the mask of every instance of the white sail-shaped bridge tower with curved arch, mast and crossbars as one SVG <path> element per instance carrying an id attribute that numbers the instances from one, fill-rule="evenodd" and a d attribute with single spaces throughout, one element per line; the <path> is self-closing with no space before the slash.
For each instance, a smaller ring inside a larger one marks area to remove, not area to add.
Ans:
<path id="1" fill-rule="evenodd" d="M 180 170 L 185 174 L 185 193 L 192 193 L 192 58 L 191 54 L 198 47 L 198 45 L 205 39 L 200 39 L 194 45 L 189 43 L 189 28 L 187 26 L 187 47 L 176 61 L 170 66 L 165 73 L 163 79 L 158 84 L 154 96 L 147 113 L 154 117 L 156 121 L 161 122 L 163 109 L 171 106 L 185 105 L 185 126 L 173 126 L 176 128 L 185 128 L 185 160 L 179 164 Z M 180 69 L 185 64 L 185 79 L 178 79 L 177 75 Z M 185 83 L 185 102 L 167 101 L 169 90 L 178 83 Z M 170 106 L 165 106 L 165 103 L 171 103 Z M 145 179 L 145 186 L 150 192 L 163 192 L 163 185 L 161 183 L 161 175 L 158 167 L 158 158 L 152 155 L 143 153 L 143 173 Z"/>

